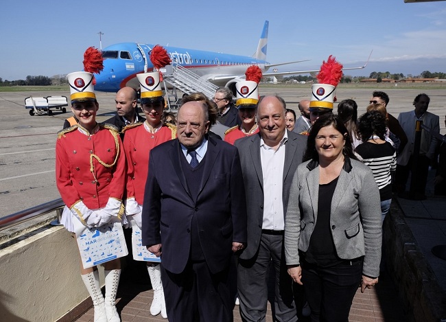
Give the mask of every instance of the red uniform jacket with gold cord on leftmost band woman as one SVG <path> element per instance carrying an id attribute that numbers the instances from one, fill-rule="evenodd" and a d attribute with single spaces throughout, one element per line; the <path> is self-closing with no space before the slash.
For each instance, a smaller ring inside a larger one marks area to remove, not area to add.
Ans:
<path id="1" fill-rule="evenodd" d="M 116 162 L 107 167 L 94 156 L 106 165 Z M 83 200 L 89 209 L 99 209 L 108 197 L 122 200 L 125 182 L 126 156 L 114 127 L 100 125 L 97 133 L 87 135 L 76 125 L 58 133 L 56 184 L 67 207 Z"/>

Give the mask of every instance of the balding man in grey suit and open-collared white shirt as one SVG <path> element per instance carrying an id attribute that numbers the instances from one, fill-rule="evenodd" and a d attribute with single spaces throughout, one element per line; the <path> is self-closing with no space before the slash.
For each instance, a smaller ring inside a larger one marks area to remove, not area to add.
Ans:
<path id="1" fill-rule="evenodd" d="M 237 286 L 244 321 L 265 321 L 268 267 L 275 270 L 277 321 L 297 321 L 292 280 L 283 254 L 290 185 L 302 162 L 307 137 L 285 128 L 285 102 L 265 96 L 257 105 L 259 134 L 238 139 L 248 209 L 248 244 L 239 257 Z"/>

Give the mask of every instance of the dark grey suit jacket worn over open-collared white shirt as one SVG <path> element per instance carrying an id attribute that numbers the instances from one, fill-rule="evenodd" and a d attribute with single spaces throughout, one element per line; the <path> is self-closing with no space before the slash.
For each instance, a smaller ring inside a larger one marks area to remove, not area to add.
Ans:
<path id="1" fill-rule="evenodd" d="M 285 165 L 283 165 L 283 216 L 288 205 L 288 195 L 297 166 L 302 163 L 307 147 L 307 136 L 287 130 L 285 143 Z M 242 260 L 254 257 L 259 249 L 261 226 L 263 223 L 263 174 L 260 160 L 260 134 L 235 141 L 242 161 L 243 179 L 246 188 L 246 208 L 248 209 L 248 244 L 240 255 Z"/>

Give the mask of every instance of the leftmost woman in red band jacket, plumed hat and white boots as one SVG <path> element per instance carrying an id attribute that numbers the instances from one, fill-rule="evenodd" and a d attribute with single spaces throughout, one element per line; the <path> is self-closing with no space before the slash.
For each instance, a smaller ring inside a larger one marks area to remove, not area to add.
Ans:
<path id="1" fill-rule="evenodd" d="M 126 160 L 117 128 L 97 124 L 99 109 L 93 90 L 93 74 L 85 71 L 67 75 L 71 111 L 78 124 L 61 130 L 56 142 L 56 184 L 65 207 L 60 220 L 78 237 L 86 227 L 101 227 L 123 220 Z M 119 258 L 104 263 L 105 299 L 99 285 L 97 266 L 84 268 L 81 276 L 93 300 L 95 322 L 119 322 L 115 299 L 121 264 Z"/>

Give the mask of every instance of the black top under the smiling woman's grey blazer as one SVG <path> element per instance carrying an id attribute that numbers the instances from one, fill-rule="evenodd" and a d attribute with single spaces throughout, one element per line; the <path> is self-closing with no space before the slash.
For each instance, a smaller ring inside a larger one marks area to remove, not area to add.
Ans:
<path id="1" fill-rule="evenodd" d="M 319 185 L 318 220 L 309 240 L 305 260 L 311 264 L 328 267 L 336 265 L 342 260 L 336 255 L 330 228 L 331 200 L 338 184 L 338 178 L 325 184 Z M 321 198 L 323 196 L 323 198 Z"/>

